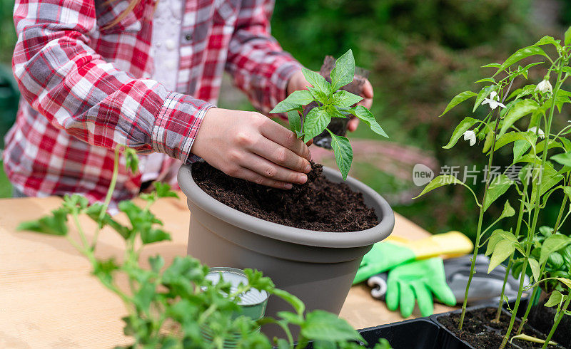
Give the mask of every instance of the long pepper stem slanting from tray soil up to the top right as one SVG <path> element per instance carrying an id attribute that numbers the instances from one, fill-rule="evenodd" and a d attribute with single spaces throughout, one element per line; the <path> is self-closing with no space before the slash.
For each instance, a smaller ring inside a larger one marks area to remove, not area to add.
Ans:
<path id="1" fill-rule="evenodd" d="M 504 339 L 502 340 L 502 345 L 500 345 L 500 349 L 503 349 L 505 347 L 505 345 L 507 344 L 507 340 L 509 340 L 510 334 L 512 333 L 513 324 L 515 323 L 515 315 L 517 313 L 517 308 L 519 308 L 519 306 L 520 306 L 520 301 L 522 298 L 523 282 L 525 280 L 525 271 L 527 270 L 527 262 L 530 259 L 531 242 L 532 242 L 533 236 L 535 235 L 535 227 L 537 226 L 537 218 L 539 217 L 539 214 L 540 214 L 540 193 L 541 193 L 541 184 L 542 184 L 542 180 L 543 180 L 543 169 L 545 168 L 545 162 L 547 161 L 547 150 L 548 150 L 547 145 L 549 144 L 549 136 L 551 134 L 551 123 L 553 120 L 553 113 L 555 112 L 555 100 L 557 99 L 557 92 L 559 92 L 559 89 L 561 87 L 561 74 L 562 74 L 561 63 L 559 63 L 559 66 L 557 66 L 557 68 L 558 68 L 557 69 L 557 71 L 558 71 L 557 72 L 557 83 L 555 83 L 555 89 L 553 90 L 550 115 L 549 115 L 549 118 L 547 118 L 547 125 L 545 126 L 545 145 L 546 146 L 545 146 L 545 150 L 543 151 L 542 157 L 541 157 L 540 175 L 537 178 L 533 220 L 532 220 L 530 230 L 527 231 L 527 248 L 525 250 L 526 254 L 525 254 L 524 259 L 523 259 L 523 266 L 522 266 L 522 271 L 521 271 L 521 275 L 520 275 L 520 288 L 517 291 L 517 299 L 515 300 L 515 306 L 514 306 L 513 311 L 512 311 L 512 318 L 510 320 L 510 325 L 507 328 L 507 331 L 504 335 Z"/>

